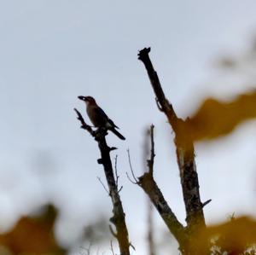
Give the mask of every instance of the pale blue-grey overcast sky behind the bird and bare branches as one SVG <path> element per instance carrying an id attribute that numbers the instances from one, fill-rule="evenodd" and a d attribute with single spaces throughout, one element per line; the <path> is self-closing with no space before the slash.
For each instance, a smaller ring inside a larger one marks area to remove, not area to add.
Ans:
<path id="1" fill-rule="evenodd" d="M 177 115 L 186 118 L 207 96 L 227 100 L 255 89 L 247 73 L 223 72 L 223 55 L 243 56 L 256 32 L 255 1 L 0 1 L 1 229 L 38 206 L 61 210 L 58 240 L 69 245 L 96 214 L 111 215 L 96 142 L 79 129 L 77 96 L 94 96 L 119 126 L 120 193 L 137 254 L 144 245 L 146 198 L 127 180 L 126 150 L 144 171 L 145 129 L 155 125 L 154 174 L 178 219 L 185 212 L 173 134 L 155 106 L 137 52 L 150 57 Z M 85 119 L 87 118 L 84 112 Z M 207 223 L 255 212 L 255 121 L 229 136 L 195 144 Z M 97 212 L 97 213 L 96 213 Z M 154 213 L 156 228 L 165 229 Z M 72 231 L 71 231 L 72 230 Z M 70 233 L 73 235 L 70 235 Z"/>

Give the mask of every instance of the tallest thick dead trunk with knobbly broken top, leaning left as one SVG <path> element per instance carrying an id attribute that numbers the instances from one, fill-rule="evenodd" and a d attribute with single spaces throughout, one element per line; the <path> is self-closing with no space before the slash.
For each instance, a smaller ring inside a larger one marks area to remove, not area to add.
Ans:
<path id="1" fill-rule="evenodd" d="M 177 164 L 183 188 L 183 200 L 186 208 L 186 222 L 190 234 L 205 227 L 205 218 L 202 210 L 202 203 L 199 192 L 198 176 L 195 168 L 195 153 L 192 138 L 189 136 L 187 123 L 183 119 L 177 118 L 172 104 L 166 99 L 162 90 L 157 72 L 154 71 L 148 53 L 150 48 L 139 51 L 138 59 L 143 61 L 148 72 L 148 78 L 154 90 L 156 101 L 160 111 L 166 114 L 168 122 L 175 133 L 175 145 L 177 154 Z"/>

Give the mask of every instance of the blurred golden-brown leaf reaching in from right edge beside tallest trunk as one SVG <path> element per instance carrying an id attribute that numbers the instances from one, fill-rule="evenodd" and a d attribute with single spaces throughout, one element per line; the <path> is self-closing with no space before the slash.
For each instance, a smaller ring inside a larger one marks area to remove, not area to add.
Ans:
<path id="1" fill-rule="evenodd" d="M 229 134 L 247 119 L 255 118 L 256 90 L 237 96 L 233 101 L 208 98 L 188 120 L 188 129 L 194 141 L 214 139 Z"/>

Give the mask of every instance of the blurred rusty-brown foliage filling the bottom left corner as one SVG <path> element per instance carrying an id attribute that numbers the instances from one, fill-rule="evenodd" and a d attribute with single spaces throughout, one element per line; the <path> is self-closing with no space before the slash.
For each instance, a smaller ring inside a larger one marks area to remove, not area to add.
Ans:
<path id="1" fill-rule="evenodd" d="M 1 255 L 64 255 L 67 251 L 57 244 L 54 223 L 57 211 L 47 206 L 38 216 L 21 217 L 14 229 L 0 235 Z"/>

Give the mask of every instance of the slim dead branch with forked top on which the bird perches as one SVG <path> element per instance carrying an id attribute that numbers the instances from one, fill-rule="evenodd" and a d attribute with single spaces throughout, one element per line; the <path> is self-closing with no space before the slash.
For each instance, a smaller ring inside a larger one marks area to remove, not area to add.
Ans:
<path id="1" fill-rule="evenodd" d="M 81 122 L 81 128 L 90 132 L 91 136 L 95 137 L 98 147 L 101 152 L 101 159 L 98 159 L 98 163 L 104 167 L 105 176 L 108 182 L 108 193 L 111 197 L 113 204 L 113 217 L 110 218 L 110 222 L 116 228 L 114 236 L 119 242 L 119 250 L 121 255 L 130 255 L 130 241 L 128 236 L 128 230 L 125 223 L 125 212 L 122 206 L 122 201 L 119 197 L 119 189 L 117 187 L 117 180 L 114 178 L 113 166 L 110 159 L 110 151 L 115 148 L 109 148 L 106 142 L 107 130 L 98 129 L 93 131 L 89 125 L 86 125 L 84 119 L 77 109 L 74 109 L 78 114 L 78 119 Z"/>

